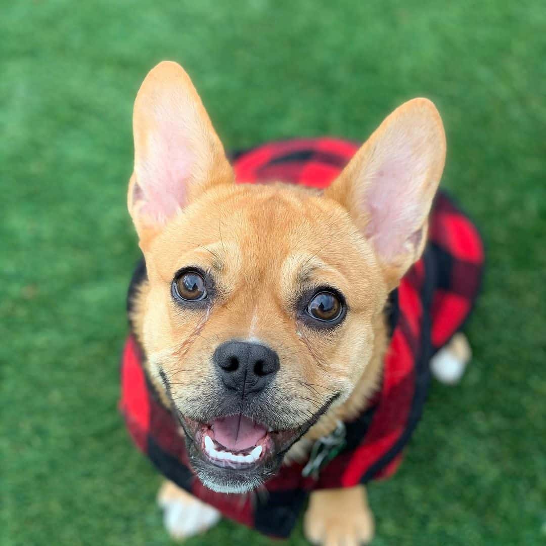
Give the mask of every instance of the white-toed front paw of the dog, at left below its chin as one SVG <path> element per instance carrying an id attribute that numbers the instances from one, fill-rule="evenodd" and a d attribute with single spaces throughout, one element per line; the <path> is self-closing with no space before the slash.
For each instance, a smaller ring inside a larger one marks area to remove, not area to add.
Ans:
<path id="1" fill-rule="evenodd" d="M 169 535 L 181 540 L 216 525 L 221 517 L 216 508 L 180 489 L 173 482 L 164 482 L 157 494 L 163 509 L 163 522 Z"/>

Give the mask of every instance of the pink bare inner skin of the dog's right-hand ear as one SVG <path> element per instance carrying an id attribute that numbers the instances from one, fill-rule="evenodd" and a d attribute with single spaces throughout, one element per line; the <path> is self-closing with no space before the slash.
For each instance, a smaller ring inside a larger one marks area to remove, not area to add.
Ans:
<path id="1" fill-rule="evenodd" d="M 405 251 L 405 244 L 420 228 L 423 206 L 421 185 L 426 164 L 407 143 L 374 158 L 364 173 L 363 206 L 369 215 L 365 234 L 385 261 Z M 425 205 L 426 206 L 426 205 Z"/>

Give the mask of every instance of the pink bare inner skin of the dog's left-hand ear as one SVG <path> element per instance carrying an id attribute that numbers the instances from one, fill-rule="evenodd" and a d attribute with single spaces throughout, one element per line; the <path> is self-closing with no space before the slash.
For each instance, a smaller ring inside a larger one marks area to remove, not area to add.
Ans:
<path id="1" fill-rule="evenodd" d="M 190 144 L 181 135 L 182 123 L 170 119 L 167 112 L 161 117 L 146 135 L 144 153 L 135 163 L 136 181 L 145 200 L 141 213 L 156 221 L 170 218 L 187 204 L 187 186 L 195 165 Z"/>

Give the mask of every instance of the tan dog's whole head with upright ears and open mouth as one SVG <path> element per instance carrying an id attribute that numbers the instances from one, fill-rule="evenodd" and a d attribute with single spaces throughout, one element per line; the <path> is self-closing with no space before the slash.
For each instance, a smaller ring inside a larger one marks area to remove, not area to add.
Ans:
<path id="1" fill-rule="evenodd" d="M 388 292 L 424 246 L 440 117 L 424 99 L 401 106 L 323 194 L 236 185 L 188 76 L 161 63 L 134 135 L 150 371 L 201 481 L 254 489 L 369 365 Z"/>

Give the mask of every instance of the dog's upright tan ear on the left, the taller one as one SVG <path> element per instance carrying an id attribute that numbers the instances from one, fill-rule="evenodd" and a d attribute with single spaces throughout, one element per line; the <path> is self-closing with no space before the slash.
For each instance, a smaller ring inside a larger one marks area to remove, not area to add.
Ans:
<path id="1" fill-rule="evenodd" d="M 197 195 L 233 183 L 233 170 L 189 76 L 152 68 L 133 111 L 135 162 L 127 205 L 141 245 Z"/>

